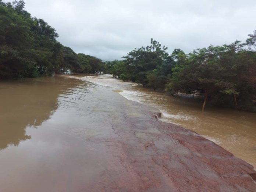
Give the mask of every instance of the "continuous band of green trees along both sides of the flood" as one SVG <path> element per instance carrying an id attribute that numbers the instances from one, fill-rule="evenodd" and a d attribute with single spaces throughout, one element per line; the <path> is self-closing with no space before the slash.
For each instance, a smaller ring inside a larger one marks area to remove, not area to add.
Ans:
<path id="1" fill-rule="evenodd" d="M 151 39 L 124 60 L 102 62 L 75 53 L 57 41 L 58 34 L 43 19 L 31 17 L 23 0 L 0 0 L 0 79 L 39 77 L 67 71 L 104 71 L 123 81 L 142 83 L 170 94 L 198 94 L 207 101 L 234 109 L 256 111 L 256 31 L 246 42 L 167 53 Z"/>

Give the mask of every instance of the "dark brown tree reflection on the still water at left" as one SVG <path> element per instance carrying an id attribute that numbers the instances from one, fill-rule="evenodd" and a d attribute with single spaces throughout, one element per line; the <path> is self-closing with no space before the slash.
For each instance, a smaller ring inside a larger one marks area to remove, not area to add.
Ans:
<path id="1" fill-rule="evenodd" d="M 0 83 L 0 150 L 30 139 L 26 127 L 37 127 L 56 111 L 59 95 L 78 85 L 78 79 L 47 77 Z"/>

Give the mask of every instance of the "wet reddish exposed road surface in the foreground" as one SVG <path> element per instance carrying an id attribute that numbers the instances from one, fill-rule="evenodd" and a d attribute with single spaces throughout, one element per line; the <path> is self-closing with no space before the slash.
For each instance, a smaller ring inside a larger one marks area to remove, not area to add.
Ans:
<path id="1" fill-rule="evenodd" d="M 153 118 L 127 121 L 113 126 L 108 168 L 90 190 L 256 191 L 251 165 L 195 132 Z"/>

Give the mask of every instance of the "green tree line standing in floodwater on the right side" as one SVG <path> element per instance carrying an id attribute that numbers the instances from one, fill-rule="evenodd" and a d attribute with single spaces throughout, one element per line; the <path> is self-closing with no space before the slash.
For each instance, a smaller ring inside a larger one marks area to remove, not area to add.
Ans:
<path id="1" fill-rule="evenodd" d="M 130 51 L 124 60 L 105 62 L 106 72 L 123 81 L 142 83 L 172 95 L 185 93 L 206 102 L 256 111 L 256 31 L 245 42 L 195 49 L 185 54 L 151 39 L 150 45 Z"/>

